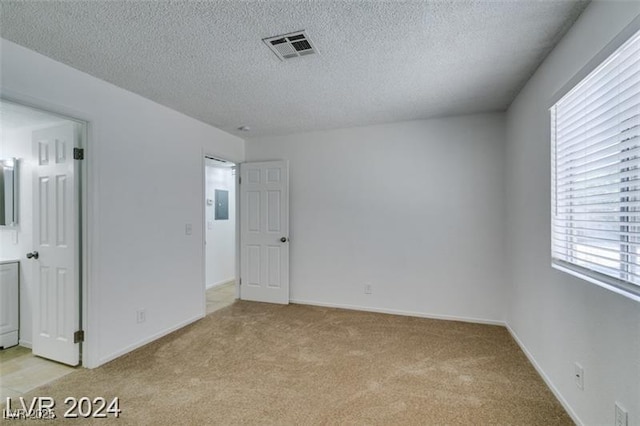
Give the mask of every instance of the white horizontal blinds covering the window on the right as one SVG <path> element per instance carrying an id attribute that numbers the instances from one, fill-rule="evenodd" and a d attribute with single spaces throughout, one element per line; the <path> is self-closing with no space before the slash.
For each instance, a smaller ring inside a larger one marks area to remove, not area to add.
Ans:
<path id="1" fill-rule="evenodd" d="M 552 253 L 640 286 L 640 32 L 551 109 Z"/>

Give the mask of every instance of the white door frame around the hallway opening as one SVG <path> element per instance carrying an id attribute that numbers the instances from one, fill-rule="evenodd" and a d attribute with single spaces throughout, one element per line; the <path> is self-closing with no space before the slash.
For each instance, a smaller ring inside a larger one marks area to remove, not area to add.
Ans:
<path id="1" fill-rule="evenodd" d="M 207 150 L 202 151 L 200 156 L 202 159 L 202 317 L 207 315 L 207 158 L 215 158 L 233 164 L 236 167 L 236 178 L 233 180 L 235 204 L 235 295 L 236 299 L 240 299 L 240 162 L 229 160 L 224 155 L 217 155 Z"/>

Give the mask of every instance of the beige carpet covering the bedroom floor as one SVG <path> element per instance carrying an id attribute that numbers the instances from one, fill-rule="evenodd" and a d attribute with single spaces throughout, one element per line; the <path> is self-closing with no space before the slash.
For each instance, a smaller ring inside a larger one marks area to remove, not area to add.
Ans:
<path id="1" fill-rule="evenodd" d="M 250 302 L 35 395 L 120 397 L 96 424 L 572 424 L 503 327 Z"/>

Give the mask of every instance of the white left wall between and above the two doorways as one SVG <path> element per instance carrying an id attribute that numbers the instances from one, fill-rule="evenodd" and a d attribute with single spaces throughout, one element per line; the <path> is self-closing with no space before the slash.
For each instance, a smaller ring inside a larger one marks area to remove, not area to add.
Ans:
<path id="1" fill-rule="evenodd" d="M 242 161 L 243 141 L 12 42 L 0 48 L 4 96 L 89 121 L 85 365 L 204 315 L 202 159 Z"/>

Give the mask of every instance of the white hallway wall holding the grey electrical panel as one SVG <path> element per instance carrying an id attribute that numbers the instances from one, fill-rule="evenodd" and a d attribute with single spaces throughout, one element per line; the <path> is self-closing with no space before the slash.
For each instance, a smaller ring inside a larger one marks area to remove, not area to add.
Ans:
<path id="1" fill-rule="evenodd" d="M 229 191 L 229 219 L 215 220 L 215 190 Z M 207 166 L 207 288 L 224 284 L 236 276 L 236 185 L 230 168 Z"/>

